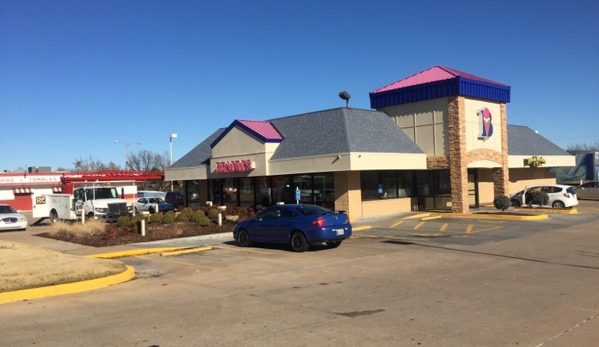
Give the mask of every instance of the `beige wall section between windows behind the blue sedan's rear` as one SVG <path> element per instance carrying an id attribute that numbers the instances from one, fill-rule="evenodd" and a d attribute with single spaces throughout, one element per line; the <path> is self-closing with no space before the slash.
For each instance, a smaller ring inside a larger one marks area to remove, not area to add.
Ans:
<path id="1" fill-rule="evenodd" d="M 335 172 L 335 210 L 347 211 L 353 220 L 362 217 L 362 194 L 360 172 Z"/>

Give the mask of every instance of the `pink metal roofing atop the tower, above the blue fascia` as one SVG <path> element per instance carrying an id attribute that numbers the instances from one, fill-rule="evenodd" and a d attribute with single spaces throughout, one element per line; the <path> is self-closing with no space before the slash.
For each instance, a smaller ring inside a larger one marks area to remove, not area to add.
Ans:
<path id="1" fill-rule="evenodd" d="M 386 92 L 386 91 L 400 89 L 400 88 L 417 86 L 417 85 L 426 84 L 426 83 L 439 82 L 439 81 L 449 80 L 449 79 L 456 78 L 456 77 L 463 77 L 463 78 L 467 78 L 467 79 L 470 79 L 473 81 L 480 81 L 480 82 L 491 83 L 491 84 L 496 84 L 496 85 L 507 87 L 507 85 L 505 85 L 505 84 L 491 81 L 486 78 L 482 78 L 482 77 L 475 76 L 475 75 L 472 75 L 469 73 L 465 73 L 465 72 L 462 72 L 459 70 L 455 70 L 455 69 L 451 69 L 448 67 L 437 65 L 437 66 L 431 67 L 430 69 L 418 72 L 412 76 L 406 77 L 402 80 L 393 82 L 387 86 L 379 88 L 379 89 L 373 91 L 372 93 L 380 93 L 380 92 Z"/>

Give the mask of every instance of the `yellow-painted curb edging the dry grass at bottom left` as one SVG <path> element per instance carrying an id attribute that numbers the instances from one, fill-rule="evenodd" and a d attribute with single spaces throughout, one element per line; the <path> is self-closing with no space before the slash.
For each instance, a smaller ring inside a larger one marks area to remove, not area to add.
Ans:
<path id="1" fill-rule="evenodd" d="M 106 288 L 115 284 L 131 281 L 135 279 L 135 277 L 135 269 L 127 265 L 127 269 L 125 271 L 112 276 L 74 283 L 57 284 L 54 286 L 0 293 L 0 304 L 13 301 L 39 299 L 49 296 L 80 293 L 94 289 Z"/>

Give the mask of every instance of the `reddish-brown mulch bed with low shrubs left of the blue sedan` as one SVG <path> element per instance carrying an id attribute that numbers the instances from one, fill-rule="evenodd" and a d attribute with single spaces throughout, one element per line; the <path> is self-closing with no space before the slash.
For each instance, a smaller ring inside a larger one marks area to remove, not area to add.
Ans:
<path id="1" fill-rule="evenodd" d="M 176 239 L 190 236 L 210 235 L 217 233 L 232 232 L 235 225 L 232 223 L 223 223 L 222 226 L 211 224 L 207 227 L 201 227 L 194 223 L 173 223 L 173 224 L 147 224 L 146 235 L 130 231 L 129 228 L 119 228 L 116 225 L 107 228 L 104 232 L 78 237 L 77 235 L 61 232 L 57 234 L 41 233 L 37 236 L 47 237 L 55 240 L 77 243 L 92 247 L 107 247 L 126 245 L 130 243 L 158 241 Z"/>

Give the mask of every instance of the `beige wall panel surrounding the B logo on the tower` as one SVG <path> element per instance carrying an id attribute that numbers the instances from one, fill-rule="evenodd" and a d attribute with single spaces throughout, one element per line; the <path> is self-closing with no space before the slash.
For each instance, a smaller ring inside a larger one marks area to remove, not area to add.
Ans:
<path id="1" fill-rule="evenodd" d="M 481 119 L 478 111 L 488 108 L 491 111 L 493 136 L 483 140 L 481 134 Z M 466 152 L 476 149 L 490 149 L 501 153 L 501 104 L 479 99 L 464 99 L 464 112 L 466 117 Z M 495 167 L 500 165 L 495 165 Z"/>

